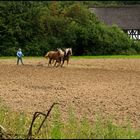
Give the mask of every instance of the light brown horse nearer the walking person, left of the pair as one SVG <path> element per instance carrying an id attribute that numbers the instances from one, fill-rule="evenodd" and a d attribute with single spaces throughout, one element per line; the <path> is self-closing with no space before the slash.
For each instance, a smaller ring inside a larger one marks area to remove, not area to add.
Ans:
<path id="1" fill-rule="evenodd" d="M 56 60 L 59 64 L 57 67 L 61 64 L 62 57 L 64 56 L 64 52 L 61 49 L 57 49 L 58 51 L 49 51 L 46 55 L 45 58 L 49 58 L 49 63 L 48 66 L 51 64 L 51 61 Z M 56 66 L 56 63 L 55 65 Z"/>

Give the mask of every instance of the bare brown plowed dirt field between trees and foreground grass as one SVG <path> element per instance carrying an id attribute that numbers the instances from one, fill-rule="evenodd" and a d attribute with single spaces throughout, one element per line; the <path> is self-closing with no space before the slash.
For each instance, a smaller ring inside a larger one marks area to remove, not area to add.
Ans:
<path id="1" fill-rule="evenodd" d="M 0 100 L 14 111 L 46 112 L 58 102 L 91 121 L 97 114 L 140 127 L 140 59 L 71 59 L 52 68 L 44 58 L 0 59 Z"/>

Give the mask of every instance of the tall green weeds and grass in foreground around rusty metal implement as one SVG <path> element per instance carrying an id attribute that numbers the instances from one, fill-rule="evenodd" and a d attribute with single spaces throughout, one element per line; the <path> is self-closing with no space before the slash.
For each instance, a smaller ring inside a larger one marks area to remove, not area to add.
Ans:
<path id="1" fill-rule="evenodd" d="M 66 122 L 61 119 L 61 111 L 55 108 L 51 117 L 46 121 L 35 139 L 138 139 L 140 130 L 131 127 L 129 121 L 125 126 L 114 124 L 111 120 L 102 120 L 96 116 L 94 123 L 90 123 L 86 117 L 76 119 L 72 110 L 68 111 L 69 117 Z M 33 135 L 41 124 L 43 117 L 39 117 L 33 127 Z M 7 133 L 13 134 L 13 139 L 24 139 L 28 133 L 32 116 L 24 112 L 14 112 L 4 105 L 0 105 L 0 125 Z M 1 133 L 1 131 L 0 131 Z M 14 134 L 18 134 L 15 135 Z"/>

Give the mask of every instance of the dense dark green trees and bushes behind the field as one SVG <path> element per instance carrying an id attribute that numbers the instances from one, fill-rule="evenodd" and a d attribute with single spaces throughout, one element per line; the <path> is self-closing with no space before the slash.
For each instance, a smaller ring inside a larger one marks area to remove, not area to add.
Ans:
<path id="1" fill-rule="evenodd" d="M 26 56 L 44 56 L 47 51 L 67 47 L 74 55 L 140 54 L 138 41 L 116 25 L 102 23 L 89 11 L 89 4 L 1 1 L 0 56 L 15 56 L 18 48 Z"/>

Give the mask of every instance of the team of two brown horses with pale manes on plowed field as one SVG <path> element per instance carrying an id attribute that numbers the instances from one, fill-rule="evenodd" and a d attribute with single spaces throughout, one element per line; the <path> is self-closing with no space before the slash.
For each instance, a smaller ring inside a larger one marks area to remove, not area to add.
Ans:
<path id="1" fill-rule="evenodd" d="M 71 55 L 72 55 L 72 48 L 66 48 L 64 50 L 57 48 L 57 51 L 49 51 L 45 55 L 45 58 L 49 58 L 48 66 L 51 65 L 55 61 L 54 66 L 56 66 L 56 63 L 58 63 L 56 67 L 60 65 L 62 67 L 65 61 L 67 61 L 67 65 L 68 65 L 69 58 Z M 61 61 L 62 61 L 62 64 L 61 64 Z"/>

